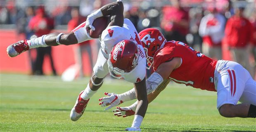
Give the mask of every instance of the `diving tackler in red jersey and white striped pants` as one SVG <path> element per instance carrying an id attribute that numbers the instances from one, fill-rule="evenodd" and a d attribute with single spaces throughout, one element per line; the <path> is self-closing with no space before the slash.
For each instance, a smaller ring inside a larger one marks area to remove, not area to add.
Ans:
<path id="1" fill-rule="evenodd" d="M 148 68 L 153 66 L 155 71 L 146 80 L 149 102 L 166 87 L 168 80 L 173 80 L 201 90 L 217 92 L 217 108 L 224 117 L 256 117 L 256 81 L 240 64 L 213 60 L 183 42 L 167 42 L 156 28 L 147 28 L 139 36 L 146 52 Z M 110 97 L 103 99 L 111 101 L 111 96 L 115 95 L 118 97 L 116 101 L 128 101 L 135 98 L 132 91 L 123 94 L 107 93 Z M 242 104 L 237 104 L 238 101 Z M 111 105 L 113 107 L 115 102 Z M 136 102 L 128 107 L 117 107 L 113 111 L 116 112 L 114 115 L 133 115 L 135 106 Z"/>

